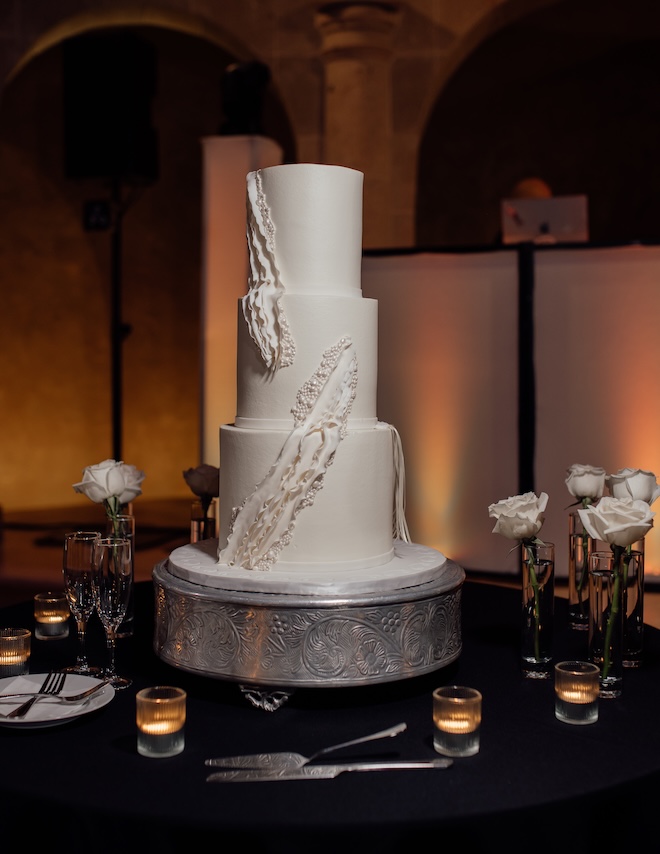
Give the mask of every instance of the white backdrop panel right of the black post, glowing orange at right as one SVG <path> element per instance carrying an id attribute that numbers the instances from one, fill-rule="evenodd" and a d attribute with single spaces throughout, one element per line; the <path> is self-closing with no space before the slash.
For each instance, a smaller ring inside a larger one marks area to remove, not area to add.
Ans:
<path id="1" fill-rule="evenodd" d="M 660 248 L 537 252 L 535 318 L 535 484 L 550 496 L 544 532 L 565 575 L 568 466 L 660 474 Z M 645 551 L 657 576 L 655 521 Z"/>

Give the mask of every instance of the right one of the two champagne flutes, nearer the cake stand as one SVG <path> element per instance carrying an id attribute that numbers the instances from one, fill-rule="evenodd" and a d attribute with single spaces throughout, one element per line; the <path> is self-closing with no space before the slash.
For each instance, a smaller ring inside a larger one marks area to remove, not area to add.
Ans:
<path id="1" fill-rule="evenodd" d="M 109 656 L 103 678 L 115 689 L 128 688 L 131 680 L 119 676 L 115 670 L 115 648 L 117 629 L 124 619 L 133 589 L 130 542 L 122 537 L 99 537 L 94 543 L 92 563 L 94 600 L 105 630 Z"/>

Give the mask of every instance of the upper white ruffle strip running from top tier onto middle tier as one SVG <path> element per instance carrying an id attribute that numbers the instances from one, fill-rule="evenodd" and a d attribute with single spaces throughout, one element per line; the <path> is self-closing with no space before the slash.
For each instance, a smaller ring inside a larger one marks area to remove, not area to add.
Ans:
<path id="1" fill-rule="evenodd" d="M 267 368 L 293 363 L 296 347 L 280 298 L 284 286 L 275 260 L 275 226 L 261 184 L 261 172 L 247 176 L 247 244 L 250 261 L 243 317 Z"/>

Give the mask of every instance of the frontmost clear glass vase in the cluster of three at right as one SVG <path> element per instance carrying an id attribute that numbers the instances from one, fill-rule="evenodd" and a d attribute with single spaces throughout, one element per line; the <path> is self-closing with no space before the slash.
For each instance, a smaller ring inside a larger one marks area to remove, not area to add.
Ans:
<path id="1" fill-rule="evenodd" d="M 600 667 L 600 696 L 623 690 L 625 584 L 621 561 L 611 551 L 596 551 L 589 565 L 589 658 Z"/>

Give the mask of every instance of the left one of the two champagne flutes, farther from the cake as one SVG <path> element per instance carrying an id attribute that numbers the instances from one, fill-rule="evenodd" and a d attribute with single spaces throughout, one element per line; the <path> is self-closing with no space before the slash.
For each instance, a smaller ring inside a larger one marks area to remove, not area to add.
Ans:
<path id="1" fill-rule="evenodd" d="M 100 668 L 91 667 L 87 660 L 87 621 L 94 612 L 92 587 L 92 552 L 101 535 L 98 531 L 74 531 L 64 537 L 62 574 L 64 592 L 78 629 L 78 655 L 76 663 L 65 667 L 67 673 L 95 676 Z"/>

